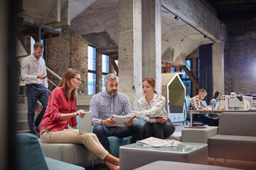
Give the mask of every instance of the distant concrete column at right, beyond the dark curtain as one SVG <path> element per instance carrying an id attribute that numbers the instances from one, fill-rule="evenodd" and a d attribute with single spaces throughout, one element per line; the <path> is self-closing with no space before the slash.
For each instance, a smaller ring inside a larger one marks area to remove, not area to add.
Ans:
<path id="1" fill-rule="evenodd" d="M 224 94 L 224 44 L 213 44 L 213 95 L 215 91 Z"/>

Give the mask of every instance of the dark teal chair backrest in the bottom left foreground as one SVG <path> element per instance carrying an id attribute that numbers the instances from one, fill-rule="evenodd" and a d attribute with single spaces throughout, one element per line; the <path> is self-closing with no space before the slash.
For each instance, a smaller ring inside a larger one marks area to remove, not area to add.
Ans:
<path id="1" fill-rule="evenodd" d="M 46 159 L 35 135 L 31 133 L 16 134 L 18 149 L 18 169 L 20 170 L 48 170 Z"/>

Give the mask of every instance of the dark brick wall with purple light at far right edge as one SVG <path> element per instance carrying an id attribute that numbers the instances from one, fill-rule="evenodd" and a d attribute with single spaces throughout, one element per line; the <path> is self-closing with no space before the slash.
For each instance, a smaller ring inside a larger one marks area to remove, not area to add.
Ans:
<path id="1" fill-rule="evenodd" d="M 235 92 L 256 93 L 256 33 L 247 33 L 230 39 L 225 49 L 225 82 Z M 225 94 L 230 90 L 225 84 Z"/>

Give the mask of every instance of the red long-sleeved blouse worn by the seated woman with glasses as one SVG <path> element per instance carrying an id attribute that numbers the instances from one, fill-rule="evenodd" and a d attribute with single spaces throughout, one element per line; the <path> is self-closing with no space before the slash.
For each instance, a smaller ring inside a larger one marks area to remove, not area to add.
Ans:
<path id="1" fill-rule="evenodd" d="M 78 125 L 75 117 L 60 120 L 60 114 L 75 113 L 75 111 L 76 100 L 70 98 L 70 103 L 68 103 L 68 98 L 64 95 L 64 89 L 60 87 L 55 88 L 50 94 L 48 106 L 41 122 L 40 131 L 45 129 L 58 131 L 68 129 L 68 124 L 70 124 L 71 127 Z"/>

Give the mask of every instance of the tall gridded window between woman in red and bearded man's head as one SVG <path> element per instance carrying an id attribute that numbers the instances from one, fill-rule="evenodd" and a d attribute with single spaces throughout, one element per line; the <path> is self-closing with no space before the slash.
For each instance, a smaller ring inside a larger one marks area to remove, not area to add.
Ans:
<path id="1" fill-rule="evenodd" d="M 88 95 L 96 94 L 96 75 L 97 75 L 96 48 L 88 45 Z"/>

